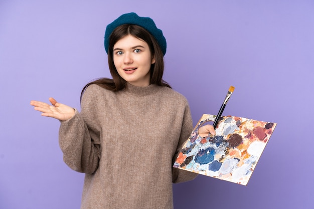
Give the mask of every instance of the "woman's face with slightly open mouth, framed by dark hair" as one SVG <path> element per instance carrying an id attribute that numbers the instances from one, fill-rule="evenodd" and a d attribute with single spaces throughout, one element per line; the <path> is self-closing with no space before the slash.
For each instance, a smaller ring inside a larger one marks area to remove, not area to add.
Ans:
<path id="1" fill-rule="evenodd" d="M 150 66 L 155 63 L 146 42 L 127 35 L 113 46 L 113 62 L 118 74 L 133 86 L 149 85 Z"/>

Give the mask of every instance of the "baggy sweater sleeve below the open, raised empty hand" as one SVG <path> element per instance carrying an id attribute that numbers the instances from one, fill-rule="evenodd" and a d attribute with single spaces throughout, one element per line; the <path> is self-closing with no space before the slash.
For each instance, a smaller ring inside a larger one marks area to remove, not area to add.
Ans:
<path id="1" fill-rule="evenodd" d="M 59 145 L 64 162 L 73 170 L 93 173 L 100 158 L 100 134 L 97 125 L 96 96 L 93 88 L 88 87 L 83 95 L 81 113 L 67 121 L 61 121 Z"/>

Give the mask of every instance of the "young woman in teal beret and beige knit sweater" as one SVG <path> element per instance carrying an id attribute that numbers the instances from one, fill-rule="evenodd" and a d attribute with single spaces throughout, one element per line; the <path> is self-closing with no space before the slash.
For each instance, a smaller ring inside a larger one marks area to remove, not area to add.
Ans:
<path id="1" fill-rule="evenodd" d="M 53 98 L 31 105 L 61 121 L 64 161 L 86 173 L 81 208 L 173 208 L 172 183 L 196 174 L 172 167 L 193 126 L 188 101 L 162 79 L 166 39 L 129 13 L 107 26 L 105 49 L 112 79 L 84 87 L 80 113 Z"/>

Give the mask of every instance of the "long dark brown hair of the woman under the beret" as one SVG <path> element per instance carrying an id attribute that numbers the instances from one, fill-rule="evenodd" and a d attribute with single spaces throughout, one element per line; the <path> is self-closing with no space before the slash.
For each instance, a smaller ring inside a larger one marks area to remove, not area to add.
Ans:
<path id="1" fill-rule="evenodd" d="M 117 69 L 114 66 L 113 62 L 113 46 L 123 37 L 131 35 L 135 38 L 141 39 L 147 43 L 151 56 L 155 58 L 155 63 L 150 66 L 150 84 L 156 84 L 158 86 L 167 86 L 171 88 L 171 86 L 163 80 L 164 75 L 164 55 L 163 52 L 155 40 L 155 38 L 144 28 L 137 25 L 124 24 L 118 26 L 113 30 L 109 37 L 109 48 L 108 48 L 108 66 L 110 70 L 110 74 L 112 79 L 109 78 L 101 78 L 95 81 L 92 81 L 86 84 L 81 92 L 81 100 L 82 96 L 88 86 L 91 84 L 97 84 L 98 86 L 108 89 L 110 91 L 119 91 L 126 88 L 126 81 L 121 78 L 118 74 Z"/>

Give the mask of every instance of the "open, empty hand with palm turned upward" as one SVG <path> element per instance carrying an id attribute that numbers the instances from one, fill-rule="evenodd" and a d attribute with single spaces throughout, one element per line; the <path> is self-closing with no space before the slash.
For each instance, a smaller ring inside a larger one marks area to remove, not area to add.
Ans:
<path id="1" fill-rule="evenodd" d="M 35 110 L 42 112 L 42 116 L 56 118 L 58 120 L 68 120 L 75 114 L 75 110 L 67 105 L 58 103 L 54 98 L 50 97 L 49 101 L 52 105 L 45 102 L 31 101 Z"/>

